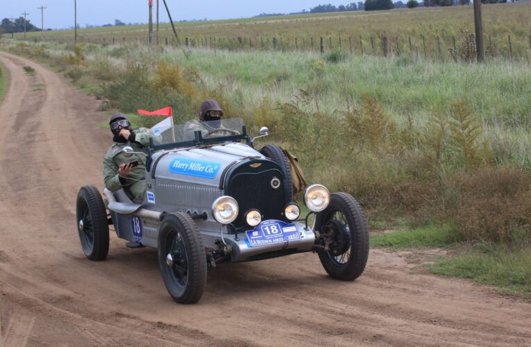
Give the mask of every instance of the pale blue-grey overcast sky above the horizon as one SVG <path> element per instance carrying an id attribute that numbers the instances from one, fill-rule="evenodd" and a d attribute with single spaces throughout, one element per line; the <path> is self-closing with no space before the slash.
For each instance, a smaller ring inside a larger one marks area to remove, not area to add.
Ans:
<path id="1" fill-rule="evenodd" d="M 353 0 L 166 0 L 174 21 L 183 19 L 230 19 L 253 17 L 262 12 L 298 12 L 303 9 L 331 3 L 332 5 L 346 5 Z M 355 1 L 357 2 L 357 0 Z M 41 26 L 41 6 L 44 10 L 45 28 L 74 27 L 74 0 L 0 0 L 0 19 L 18 18 L 22 12 L 28 12 L 28 20 L 32 24 Z M 153 5 L 156 0 L 153 0 Z M 114 24 L 115 19 L 126 23 L 146 23 L 148 18 L 148 0 L 77 0 L 78 24 Z M 154 8 L 154 7 L 153 7 Z M 160 0 L 160 21 L 168 22 L 164 4 Z"/>

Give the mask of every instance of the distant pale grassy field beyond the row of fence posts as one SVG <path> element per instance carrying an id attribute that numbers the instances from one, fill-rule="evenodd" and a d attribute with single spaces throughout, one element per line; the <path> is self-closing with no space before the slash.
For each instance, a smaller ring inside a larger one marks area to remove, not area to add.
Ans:
<path id="1" fill-rule="evenodd" d="M 531 3 L 500 3 L 482 6 L 487 56 L 529 59 Z M 189 37 L 195 46 L 230 49 L 319 50 L 319 37 L 325 50 L 382 55 L 382 35 L 388 37 L 391 55 L 414 54 L 451 59 L 448 49 L 460 51 L 461 30 L 473 32 L 472 6 L 416 8 L 375 12 L 338 12 L 212 22 L 178 23 L 180 44 Z M 73 31 L 30 33 L 30 40 L 72 42 Z M 78 31 L 80 42 L 106 44 L 146 42 L 147 26 L 89 28 Z M 509 37 L 511 46 L 509 49 Z M 17 39 L 22 34 L 15 35 Z M 242 38 L 242 43 L 237 40 Z M 423 39 L 424 37 L 424 39 Z M 103 40 L 105 39 L 105 41 Z M 163 24 L 160 42 L 174 44 L 169 24 Z M 312 46 L 313 40 L 313 46 Z M 410 43 L 411 40 L 411 43 Z M 454 44 L 454 42 L 456 42 Z"/>

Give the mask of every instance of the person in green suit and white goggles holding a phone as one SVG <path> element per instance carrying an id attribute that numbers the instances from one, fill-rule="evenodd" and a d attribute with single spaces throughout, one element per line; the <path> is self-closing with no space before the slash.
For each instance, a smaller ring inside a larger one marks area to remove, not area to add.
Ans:
<path id="1" fill-rule="evenodd" d="M 112 144 L 103 158 L 103 180 L 111 192 L 124 189 L 135 203 L 142 203 L 146 192 L 146 153 L 144 147 L 149 146 L 149 137 L 153 136 L 149 129 L 133 130 L 126 115 L 117 113 L 110 117 Z M 133 153 L 123 151 L 124 147 L 133 148 Z"/>

